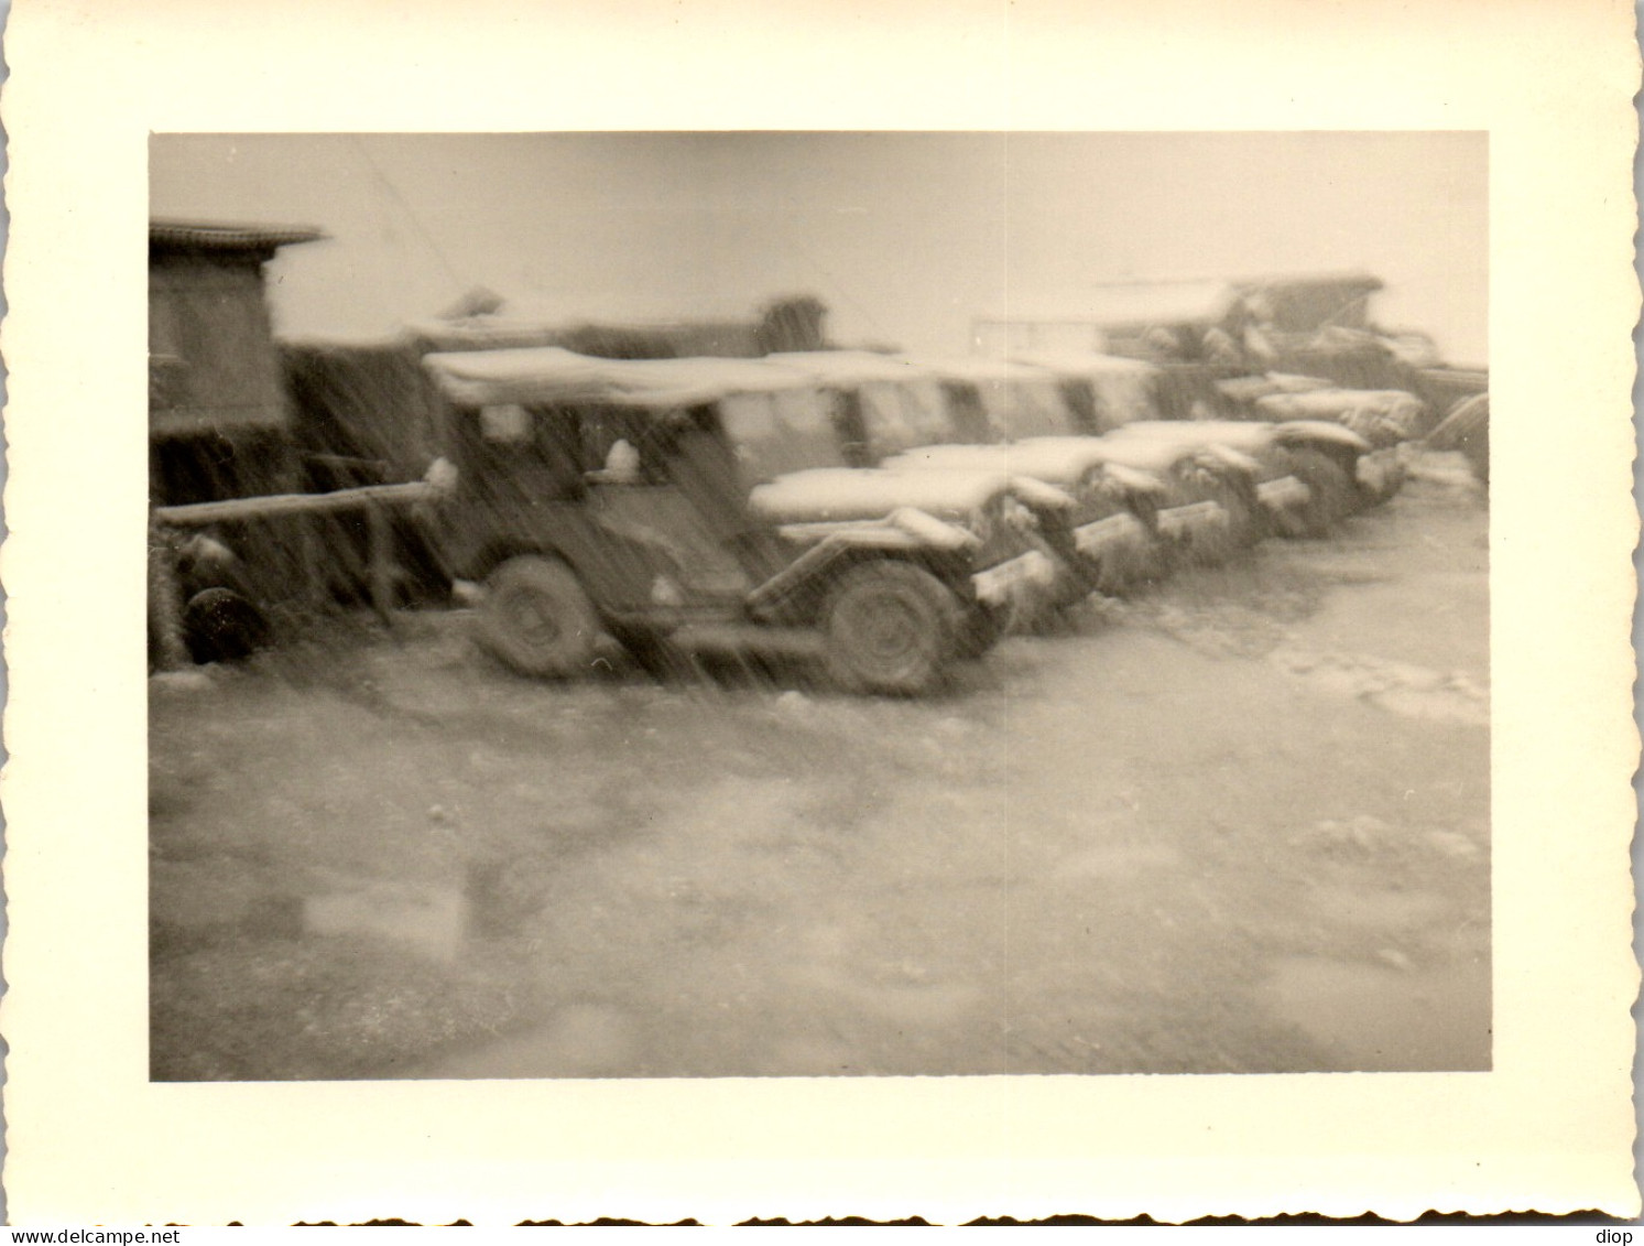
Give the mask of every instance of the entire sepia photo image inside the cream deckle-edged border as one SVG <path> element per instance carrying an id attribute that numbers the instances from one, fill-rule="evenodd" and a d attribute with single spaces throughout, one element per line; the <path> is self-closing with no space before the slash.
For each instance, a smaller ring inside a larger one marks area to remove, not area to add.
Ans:
<path id="1" fill-rule="evenodd" d="M 148 159 L 155 1082 L 1493 1067 L 1488 135 Z"/>

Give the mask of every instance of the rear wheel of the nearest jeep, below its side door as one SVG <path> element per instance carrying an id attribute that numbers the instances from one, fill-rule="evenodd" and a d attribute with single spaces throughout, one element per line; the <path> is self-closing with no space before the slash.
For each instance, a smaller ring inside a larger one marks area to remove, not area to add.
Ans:
<path id="1" fill-rule="evenodd" d="M 520 674 L 585 671 L 598 636 L 593 603 L 575 572 L 557 559 L 508 559 L 485 582 L 480 644 Z"/>

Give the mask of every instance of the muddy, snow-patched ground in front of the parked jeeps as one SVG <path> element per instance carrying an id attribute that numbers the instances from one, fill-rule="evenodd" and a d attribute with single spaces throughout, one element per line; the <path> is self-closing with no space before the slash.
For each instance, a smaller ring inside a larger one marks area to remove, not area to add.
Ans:
<path id="1" fill-rule="evenodd" d="M 926 702 L 151 681 L 156 1078 L 1489 1067 L 1486 511 L 1432 459 Z"/>

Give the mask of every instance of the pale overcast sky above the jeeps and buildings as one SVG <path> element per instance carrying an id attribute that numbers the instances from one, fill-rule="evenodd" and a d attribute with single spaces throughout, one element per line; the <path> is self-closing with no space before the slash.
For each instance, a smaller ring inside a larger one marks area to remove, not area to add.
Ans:
<path id="1" fill-rule="evenodd" d="M 326 230 L 271 268 L 284 337 L 473 286 L 570 322 L 814 293 L 840 342 L 954 353 L 1100 281 L 1365 268 L 1381 322 L 1486 362 L 1480 133 L 161 135 L 150 168 L 155 215 Z"/>

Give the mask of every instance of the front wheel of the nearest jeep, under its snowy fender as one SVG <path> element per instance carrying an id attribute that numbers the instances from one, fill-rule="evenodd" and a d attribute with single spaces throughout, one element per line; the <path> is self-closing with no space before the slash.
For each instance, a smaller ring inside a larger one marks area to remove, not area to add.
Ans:
<path id="1" fill-rule="evenodd" d="M 927 692 L 957 653 L 962 618 L 952 590 L 921 567 L 852 567 L 822 608 L 829 674 L 853 692 Z"/>

